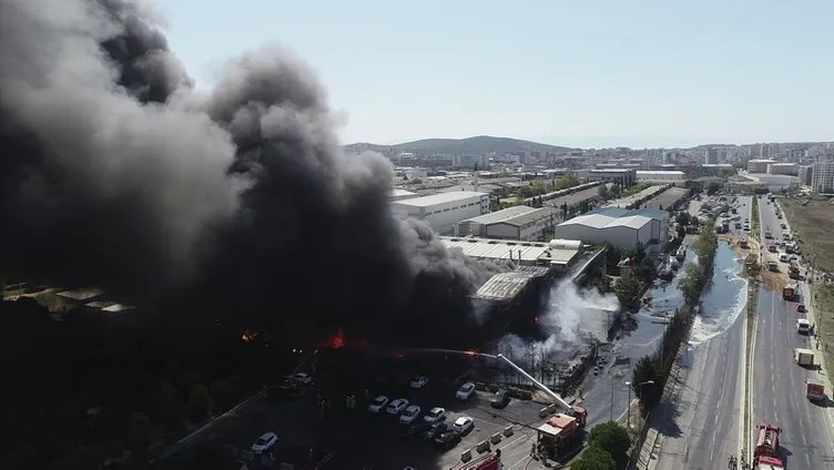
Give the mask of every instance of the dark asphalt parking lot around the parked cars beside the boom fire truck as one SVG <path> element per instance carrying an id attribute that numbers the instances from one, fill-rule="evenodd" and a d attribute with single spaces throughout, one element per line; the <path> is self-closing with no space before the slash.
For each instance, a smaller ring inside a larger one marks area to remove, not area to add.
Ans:
<path id="1" fill-rule="evenodd" d="M 434 407 L 446 408 L 449 426 L 459 417 L 472 418 L 475 426 L 471 431 L 448 451 L 438 449 L 424 436 L 406 436 L 407 426 L 400 425 L 396 416 L 385 411 L 370 413 L 364 394 L 356 397 L 353 409 L 345 402 L 332 402 L 329 408 L 321 409 L 312 391 L 307 397 L 284 401 L 272 401 L 264 396 L 217 422 L 205 439 L 248 449 L 263 432 L 273 431 L 278 435 L 279 442 L 274 452 L 276 461 L 289 461 L 298 466 L 296 468 L 332 453 L 333 459 L 324 468 L 403 469 L 410 466 L 418 470 L 439 470 L 460 468 L 461 452 L 468 449 L 472 449 L 474 459 L 478 458 L 482 453 L 475 450 L 476 446 L 500 435 L 500 442 L 490 445 L 490 451 L 501 450 L 505 469 L 539 468 L 537 461 L 526 466 L 530 460 L 535 428 L 543 421 L 538 416 L 541 405 L 513 399 L 507 407 L 496 409 L 490 406 L 492 394 L 489 391 L 478 390 L 464 402 L 455 397 L 456 390 L 457 384 L 429 378 L 423 389 L 400 384 L 370 394 L 372 400 L 376 395 L 386 395 L 391 400 L 405 398 L 420 406 L 423 415 Z M 511 436 L 505 435 L 508 428 Z M 314 459 L 308 457 L 311 450 Z M 277 463 L 268 467 L 255 459 L 248 468 L 277 468 Z"/>

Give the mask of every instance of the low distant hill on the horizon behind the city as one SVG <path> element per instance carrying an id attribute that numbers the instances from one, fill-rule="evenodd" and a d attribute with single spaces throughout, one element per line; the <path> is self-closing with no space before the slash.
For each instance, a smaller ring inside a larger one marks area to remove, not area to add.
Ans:
<path id="1" fill-rule="evenodd" d="M 376 145 L 376 144 L 363 144 L 356 143 L 345 145 L 348 151 L 357 151 L 362 149 L 373 150 L 376 152 L 415 152 L 415 153 L 445 153 L 445 154 L 462 154 L 462 153 L 516 153 L 525 151 L 548 151 L 548 152 L 565 152 L 571 149 L 541 144 L 538 142 L 522 141 L 519 139 L 509 137 L 492 137 L 489 135 L 478 135 L 469 139 L 424 139 L 421 141 L 406 142 L 396 145 Z"/>

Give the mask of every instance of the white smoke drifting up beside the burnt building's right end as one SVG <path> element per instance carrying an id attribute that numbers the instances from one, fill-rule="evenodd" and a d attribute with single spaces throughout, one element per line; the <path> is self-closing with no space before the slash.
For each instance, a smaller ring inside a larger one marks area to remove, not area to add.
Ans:
<path id="1" fill-rule="evenodd" d="M 517 335 L 507 335 L 498 343 L 498 349 L 523 357 L 531 346 L 550 355 L 572 349 L 589 338 L 604 341 L 619 309 L 616 295 L 602 294 L 597 288 L 580 289 L 566 279 L 551 289 L 548 307 L 539 316 L 547 339 L 530 343 Z"/>

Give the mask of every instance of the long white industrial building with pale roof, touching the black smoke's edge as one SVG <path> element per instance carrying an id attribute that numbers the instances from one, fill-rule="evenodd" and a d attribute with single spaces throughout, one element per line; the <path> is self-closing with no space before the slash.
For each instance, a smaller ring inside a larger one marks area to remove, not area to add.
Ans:
<path id="1" fill-rule="evenodd" d="M 391 208 L 400 217 L 425 221 L 435 232 L 449 234 L 458 222 L 489 212 L 489 194 L 455 191 L 394 201 Z"/>

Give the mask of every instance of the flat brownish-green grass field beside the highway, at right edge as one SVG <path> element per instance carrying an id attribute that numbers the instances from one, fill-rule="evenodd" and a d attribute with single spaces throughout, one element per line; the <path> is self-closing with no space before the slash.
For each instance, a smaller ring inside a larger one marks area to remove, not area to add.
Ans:
<path id="1" fill-rule="evenodd" d="M 791 231 L 799 235 L 803 258 L 814 257 L 818 269 L 834 272 L 834 204 L 830 201 L 790 198 L 780 201 Z"/>

